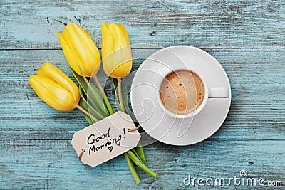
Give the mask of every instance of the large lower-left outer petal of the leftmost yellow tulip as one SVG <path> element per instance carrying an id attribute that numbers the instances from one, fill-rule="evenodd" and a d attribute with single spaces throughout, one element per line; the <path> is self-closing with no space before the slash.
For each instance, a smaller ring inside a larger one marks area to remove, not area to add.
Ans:
<path id="1" fill-rule="evenodd" d="M 38 97 L 41 97 L 43 102 L 46 102 L 46 104 L 56 110 L 73 110 L 78 103 L 74 102 L 73 96 L 68 90 L 50 78 L 41 75 L 32 75 L 28 81 Z"/>

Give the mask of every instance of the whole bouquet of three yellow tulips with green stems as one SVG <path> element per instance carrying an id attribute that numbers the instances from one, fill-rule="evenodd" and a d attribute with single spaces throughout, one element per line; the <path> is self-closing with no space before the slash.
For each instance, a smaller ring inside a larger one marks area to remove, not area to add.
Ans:
<path id="1" fill-rule="evenodd" d="M 105 22 L 101 24 L 101 32 L 103 70 L 113 80 L 118 109 L 128 113 L 128 100 L 125 100 L 121 85 L 121 79 L 130 73 L 133 64 L 128 32 L 120 23 L 106 25 Z M 56 34 L 79 86 L 56 66 L 43 63 L 38 68 L 38 73 L 29 78 L 33 90 L 56 110 L 69 111 L 78 108 L 90 125 L 115 113 L 97 78 L 101 58 L 90 34 L 75 23 L 68 23 L 62 33 L 57 31 Z M 90 83 L 91 76 L 96 85 Z M 140 178 L 133 163 L 147 175 L 156 178 L 155 172 L 147 167 L 140 143 L 124 155 L 137 184 L 140 183 Z"/>

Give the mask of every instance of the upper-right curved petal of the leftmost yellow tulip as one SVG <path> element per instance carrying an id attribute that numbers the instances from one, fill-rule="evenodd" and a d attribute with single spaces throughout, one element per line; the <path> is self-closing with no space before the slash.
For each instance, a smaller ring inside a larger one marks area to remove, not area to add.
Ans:
<path id="1" fill-rule="evenodd" d="M 74 102 L 79 102 L 80 95 L 76 83 L 56 66 L 51 63 L 43 63 L 43 66 L 38 69 L 37 75 L 43 75 L 54 80 L 58 85 L 61 85 L 73 95 Z"/>

